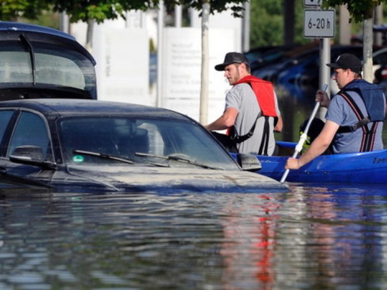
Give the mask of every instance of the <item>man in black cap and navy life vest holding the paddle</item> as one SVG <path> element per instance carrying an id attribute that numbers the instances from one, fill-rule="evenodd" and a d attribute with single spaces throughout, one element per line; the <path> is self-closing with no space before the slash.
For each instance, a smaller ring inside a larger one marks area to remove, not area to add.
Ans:
<path id="1" fill-rule="evenodd" d="M 381 87 L 361 79 L 361 61 L 344 53 L 328 63 L 340 91 L 332 100 L 318 90 L 316 101 L 328 107 L 321 133 L 299 159 L 289 158 L 286 169 L 298 169 L 330 146 L 333 154 L 367 152 L 383 149 L 382 129 L 385 96 Z"/>

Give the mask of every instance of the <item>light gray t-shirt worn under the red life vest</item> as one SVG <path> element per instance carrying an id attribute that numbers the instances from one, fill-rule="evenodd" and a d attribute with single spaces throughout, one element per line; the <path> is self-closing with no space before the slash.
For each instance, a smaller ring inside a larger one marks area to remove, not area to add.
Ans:
<path id="1" fill-rule="evenodd" d="M 275 93 L 274 93 L 275 95 Z M 277 115 L 280 116 L 280 110 L 278 108 L 277 96 L 275 95 Z M 248 84 L 238 84 L 233 86 L 226 95 L 226 109 L 235 108 L 238 111 L 238 115 L 235 120 L 235 130 L 238 135 L 244 135 L 248 133 L 253 125 L 257 115 L 261 112 L 260 105 L 256 100 L 255 94 Z M 265 118 L 260 117 L 255 126 L 253 135 L 247 140 L 238 144 L 238 150 L 240 153 L 258 154 L 261 146 L 263 129 Z M 275 149 L 274 138 L 274 117 L 269 118 L 269 144 L 268 155 L 271 156 Z"/>

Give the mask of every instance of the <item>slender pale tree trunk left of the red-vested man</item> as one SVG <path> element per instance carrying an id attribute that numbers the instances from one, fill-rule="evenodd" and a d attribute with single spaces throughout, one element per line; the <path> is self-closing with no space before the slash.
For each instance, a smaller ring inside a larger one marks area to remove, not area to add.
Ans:
<path id="1" fill-rule="evenodd" d="M 210 0 L 203 1 L 202 13 L 202 73 L 200 88 L 200 114 L 199 121 L 207 124 L 208 119 L 208 94 L 209 94 L 209 27 Z"/>

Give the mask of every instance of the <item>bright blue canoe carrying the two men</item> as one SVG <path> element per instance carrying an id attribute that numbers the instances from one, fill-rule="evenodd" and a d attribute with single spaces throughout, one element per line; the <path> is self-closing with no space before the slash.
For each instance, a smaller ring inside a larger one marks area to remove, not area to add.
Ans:
<path id="1" fill-rule="evenodd" d="M 295 142 L 277 142 L 287 156 L 257 156 L 262 169 L 256 173 L 281 180 L 286 160 L 292 156 Z M 231 155 L 236 158 L 235 154 Z M 298 170 L 290 170 L 288 182 L 387 183 L 387 150 L 321 155 Z"/>

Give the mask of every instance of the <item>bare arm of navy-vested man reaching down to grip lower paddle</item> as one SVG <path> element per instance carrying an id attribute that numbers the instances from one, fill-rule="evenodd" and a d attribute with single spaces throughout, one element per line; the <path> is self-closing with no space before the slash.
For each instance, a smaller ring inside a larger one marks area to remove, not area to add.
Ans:
<path id="1" fill-rule="evenodd" d="M 289 158 L 286 162 L 285 169 L 299 169 L 306 163 L 310 162 L 317 156 L 324 153 L 330 146 L 339 125 L 332 121 L 327 121 L 322 128 L 321 133 L 310 144 L 308 150 L 300 158 Z"/>

